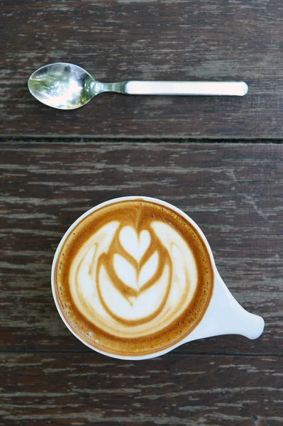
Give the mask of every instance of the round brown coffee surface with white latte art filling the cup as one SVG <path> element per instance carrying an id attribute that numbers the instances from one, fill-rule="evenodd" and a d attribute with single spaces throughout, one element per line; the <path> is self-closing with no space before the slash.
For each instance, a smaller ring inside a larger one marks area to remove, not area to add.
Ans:
<path id="1" fill-rule="evenodd" d="M 143 199 L 88 214 L 55 265 L 55 297 L 74 334 L 117 356 L 179 342 L 203 317 L 212 290 L 199 232 L 174 209 Z"/>

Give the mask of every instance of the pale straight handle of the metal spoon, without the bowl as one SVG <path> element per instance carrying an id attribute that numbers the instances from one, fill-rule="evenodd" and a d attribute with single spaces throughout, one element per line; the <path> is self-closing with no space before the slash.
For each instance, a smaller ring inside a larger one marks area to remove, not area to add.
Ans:
<path id="1" fill-rule="evenodd" d="M 126 83 L 126 94 L 171 95 L 230 95 L 244 96 L 248 92 L 245 82 L 147 82 Z"/>

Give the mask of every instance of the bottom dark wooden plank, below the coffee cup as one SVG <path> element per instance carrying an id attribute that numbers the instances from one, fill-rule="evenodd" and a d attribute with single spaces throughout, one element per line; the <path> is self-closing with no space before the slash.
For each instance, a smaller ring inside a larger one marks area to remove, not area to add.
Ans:
<path id="1" fill-rule="evenodd" d="M 1 354 L 1 425 L 279 426 L 282 358 Z"/>

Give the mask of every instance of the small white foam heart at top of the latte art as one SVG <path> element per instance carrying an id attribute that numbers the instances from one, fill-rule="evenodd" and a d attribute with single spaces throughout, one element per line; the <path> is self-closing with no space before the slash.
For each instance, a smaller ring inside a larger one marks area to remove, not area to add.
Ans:
<path id="1" fill-rule="evenodd" d="M 136 261 L 140 259 L 148 250 L 150 245 L 150 233 L 145 229 L 138 235 L 132 226 L 123 226 L 119 234 L 119 241 L 123 249 L 125 249 Z"/>

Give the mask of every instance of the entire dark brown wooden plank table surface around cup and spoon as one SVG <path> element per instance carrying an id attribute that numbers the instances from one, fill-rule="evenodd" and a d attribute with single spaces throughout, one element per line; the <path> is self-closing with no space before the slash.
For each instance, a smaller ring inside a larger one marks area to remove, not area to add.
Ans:
<path id="1" fill-rule="evenodd" d="M 280 0 L 0 0 L 0 425 L 283 424 Z M 245 80 L 246 97 L 104 94 L 75 111 L 30 96 L 31 72 L 102 81 Z M 50 288 L 57 244 L 99 202 L 148 195 L 204 231 L 218 271 L 265 319 L 149 361 L 91 351 Z"/>

